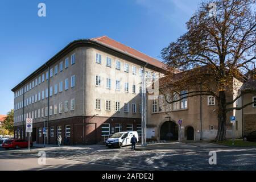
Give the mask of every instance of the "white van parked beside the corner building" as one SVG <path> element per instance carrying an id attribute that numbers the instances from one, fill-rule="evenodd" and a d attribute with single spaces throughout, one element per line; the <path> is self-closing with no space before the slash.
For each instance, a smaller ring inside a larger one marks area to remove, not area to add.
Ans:
<path id="1" fill-rule="evenodd" d="M 139 142 L 139 135 L 137 131 L 123 131 L 113 134 L 108 140 L 106 140 L 106 146 L 119 147 L 131 145 L 131 138 L 135 135 L 137 142 Z"/>

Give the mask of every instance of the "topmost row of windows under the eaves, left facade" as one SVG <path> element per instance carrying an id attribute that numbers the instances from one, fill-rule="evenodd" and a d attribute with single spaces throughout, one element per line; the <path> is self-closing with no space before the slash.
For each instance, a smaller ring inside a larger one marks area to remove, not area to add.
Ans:
<path id="1" fill-rule="evenodd" d="M 75 62 L 76 62 L 76 54 L 73 53 L 71 55 L 71 65 L 75 64 Z M 69 67 L 69 57 L 65 59 L 65 69 L 67 69 L 68 67 Z M 61 61 L 59 65 L 55 65 L 54 75 L 57 75 L 58 72 L 62 72 L 62 71 L 63 71 L 63 61 Z M 53 77 L 53 68 L 51 68 L 49 72 L 47 71 L 46 73 L 43 73 L 42 76 L 40 75 L 38 78 L 35 78 L 35 80 L 31 81 L 29 84 L 24 86 L 24 93 L 40 85 L 41 82 L 48 80 L 49 77 Z M 19 96 L 22 96 L 22 94 L 23 94 L 23 89 L 20 89 L 14 93 L 14 98 L 18 98 Z"/>

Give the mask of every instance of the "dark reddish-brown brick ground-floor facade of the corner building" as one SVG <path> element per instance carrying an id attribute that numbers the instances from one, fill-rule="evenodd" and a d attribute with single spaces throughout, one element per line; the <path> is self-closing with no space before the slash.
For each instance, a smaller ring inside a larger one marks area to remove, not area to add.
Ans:
<path id="1" fill-rule="evenodd" d="M 103 142 L 104 139 L 108 137 L 102 137 L 101 135 L 101 125 L 102 123 L 109 123 L 110 134 L 116 133 L 115 126 L 117 124 L 122 124 L 121 131 L 126 131 L 127 124 L 133 124 L 133 130 L 137 131 L 137 125 L 141 125 L 140 118 L 120 118 L 120 117 L 71 117 L 64 119 L 57 119 L 54 121 L 46 122 L 46 127 L 48 126 L 48 140 L 46 138 L 46 143 L 57 144 L 57 130 L 58 126 L 61 126 L 61 138 L 62 143 L 66 135 L 66 126 L 70 126 L 70 137 L 68 137 L 71 145 L 78 144 L 95 144 Z M 33 132 L 31 134 L 31 142 L 36 142 L 43 144 L 43 127 L 44 122 L 33 123 Z M 51 135 L 51 127 L 53 127 L 53 135 Z M 39 129 L 41 128 L 41 136 L 39 136 Z M 22 126 L 15 126 L 15 138 L 22 138 Z M 19 133 L 19 134 L 18 134 Z M 28 137 L 24 138 L 28 139 Z"/>

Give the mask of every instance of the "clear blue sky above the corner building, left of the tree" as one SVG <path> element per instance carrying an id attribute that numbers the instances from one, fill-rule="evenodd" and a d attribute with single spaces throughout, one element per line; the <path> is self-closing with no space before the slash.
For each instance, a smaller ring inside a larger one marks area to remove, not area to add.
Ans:
<path id="1" fill-rule="evenodd" d="M 38 4 L 46 4 L 46 17 Z M 11 89 L 76 39 L 106 35 L 149 56 L 182 35 L 201 0 L 1 0 L 0 114 Z"/>

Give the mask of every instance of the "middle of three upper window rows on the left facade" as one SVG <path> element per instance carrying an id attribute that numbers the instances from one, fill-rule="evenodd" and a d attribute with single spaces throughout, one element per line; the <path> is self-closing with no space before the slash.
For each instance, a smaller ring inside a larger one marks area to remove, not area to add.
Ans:
<path id="1" fill-rule="evenodd" d="M 66 78 L 64 83 L 65 83 L 64 89 L 68 90 L 69 78 Z M 76 85 L 76 76 L 73 75 L 73 76 L 71 76 L 71 88 L 75 87 L 75 85 Z M 63 81 L 60 81 L 59 84 L 54 85 L 54 94 L 56 95 L 58 92 L 63 92 Z M 42 98 L 41 98 L 41 96 L 42 96 Z M 50 88 L 49 88 L 49 96 L 50 97 L 53 96 L 53 87 L 52 86 L 50 86 Z M 38 102 L 41 99 L 44 100 L 44 98 L 48 98 L 48 88 L 46 90 L 43 90 L 42 94 L 41 94 L 41 92 L 39 92 L 38 94 L 35 94 L 28 98 L 25 98 L 24 99 L 24 107 L 34 104 L 35 102 Z M 23 108 L 23 101 L 20 101 L 14 105 L 14 110 L 19 110 L 22 108 Z"/>

